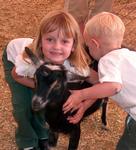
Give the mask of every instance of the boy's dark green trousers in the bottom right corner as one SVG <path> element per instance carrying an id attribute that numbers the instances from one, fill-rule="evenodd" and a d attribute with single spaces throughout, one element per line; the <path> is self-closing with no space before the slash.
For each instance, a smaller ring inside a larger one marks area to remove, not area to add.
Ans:
<path id="1" fill-rule="evenodd" d="M 136 121 L 130 116 L 126 118 L 124 133 L 116 150 L 136 150 Z"/>

